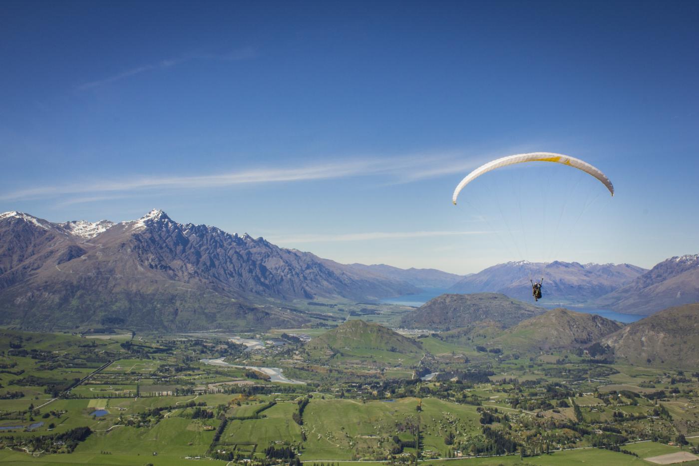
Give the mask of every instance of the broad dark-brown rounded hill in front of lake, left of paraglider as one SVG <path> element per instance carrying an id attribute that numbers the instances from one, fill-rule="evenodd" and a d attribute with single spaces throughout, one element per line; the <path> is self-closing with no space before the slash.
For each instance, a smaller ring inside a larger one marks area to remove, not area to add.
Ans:
<path id="1" fill-rule="evenodd" d="M 511 327 L 545 309 L 499 293 L 440 295 L 410 311 L 401 319 L 408 328 L 448 330 L 475 323 L 498 323 Z"/>

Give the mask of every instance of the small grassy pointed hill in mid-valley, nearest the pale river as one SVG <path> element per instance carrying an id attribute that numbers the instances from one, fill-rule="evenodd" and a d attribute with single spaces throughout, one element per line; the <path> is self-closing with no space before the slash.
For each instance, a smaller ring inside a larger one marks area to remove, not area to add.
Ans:
<path id="1" fill-rule="evenodd" d="M 424 354 L 419 341 L 363 320 L 347 320 L 309 341 L 304 348 L 316 360 L 415 362 Z"/>

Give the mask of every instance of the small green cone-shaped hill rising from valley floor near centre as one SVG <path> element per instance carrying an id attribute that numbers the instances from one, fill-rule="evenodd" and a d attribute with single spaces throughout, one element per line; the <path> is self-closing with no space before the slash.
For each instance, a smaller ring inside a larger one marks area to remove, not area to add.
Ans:
<path id="1" fill-rule="evenodd" d="M 315 337 L 304 345 L 306 350 L 329 350 L 336 353 L 365 355 L 372 358 L 372 351 L 389 351 L 400 354 L 423 352 L 419 341 L 403 337 L 387 327 L 363 320 L 347 320 L 342 325 Z"/>

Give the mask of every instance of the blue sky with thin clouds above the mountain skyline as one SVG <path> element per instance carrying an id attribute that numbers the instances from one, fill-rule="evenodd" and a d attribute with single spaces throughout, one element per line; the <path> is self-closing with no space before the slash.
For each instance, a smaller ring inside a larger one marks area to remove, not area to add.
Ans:
<path id="1" fill-rule="evenodd" d="M 456 273 L 651 267 L 699 252 L 696 24 L 693 1 L 4 1 L 0 211 L 158 207 Z M 617 195 L 527 167 L 452 206 L 470 169 L 539 150 L 596 165 Z"/>

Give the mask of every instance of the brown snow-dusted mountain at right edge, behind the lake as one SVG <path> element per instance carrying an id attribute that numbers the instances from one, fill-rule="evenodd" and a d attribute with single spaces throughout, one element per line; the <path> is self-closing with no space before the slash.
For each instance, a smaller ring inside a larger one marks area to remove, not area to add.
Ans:
<path id="1" fill-rule="evenodd" d="M 664 260 L 596 300 L 606 309 L 642 315 L 694 302 L 699 302 L 699 254 Z"/>

